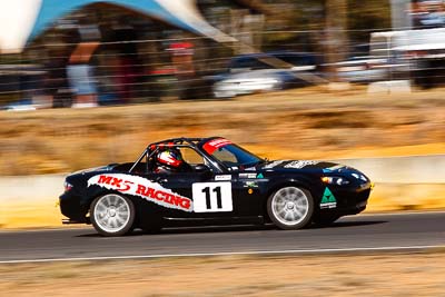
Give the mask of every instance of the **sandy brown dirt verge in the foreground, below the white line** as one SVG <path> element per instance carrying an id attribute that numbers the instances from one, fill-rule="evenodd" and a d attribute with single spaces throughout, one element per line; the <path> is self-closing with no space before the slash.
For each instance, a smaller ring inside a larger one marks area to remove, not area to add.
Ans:
<path id="1" fill-rule="evenodd" d="M 0 265 L 6 296 L 444 296 L 445 257 L 210 257 Z"/>

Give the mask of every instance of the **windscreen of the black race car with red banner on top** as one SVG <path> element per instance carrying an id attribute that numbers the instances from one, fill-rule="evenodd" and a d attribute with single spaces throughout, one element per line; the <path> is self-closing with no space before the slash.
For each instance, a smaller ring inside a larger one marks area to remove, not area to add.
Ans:
<path id="1" fill-rule="evenodd" d="M 228 168 L 246 168 L 263 162 L 254 154 L 231 143 L 229 140 L 218 138 L 206 142 L 202 148 Z"/>

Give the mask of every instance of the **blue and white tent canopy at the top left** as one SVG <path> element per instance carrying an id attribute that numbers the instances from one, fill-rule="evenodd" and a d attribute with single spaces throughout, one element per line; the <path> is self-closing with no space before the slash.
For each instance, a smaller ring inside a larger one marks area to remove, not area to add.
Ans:
<path id="1" fill-rule="evenodd" d="M 21 51 L 59 18 L 96 3 L 149 16 L 219 42 L 236 41 L 211 27 L 194 0 L 3 0 L 0 1 L 0 50 Z"/>

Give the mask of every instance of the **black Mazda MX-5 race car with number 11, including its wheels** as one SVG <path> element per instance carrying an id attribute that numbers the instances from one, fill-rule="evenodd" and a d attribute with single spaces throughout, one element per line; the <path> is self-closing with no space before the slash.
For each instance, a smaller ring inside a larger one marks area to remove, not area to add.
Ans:
<path id="1" fill-rule="evenodd" d="M 180 170 L 159 170 L 164 157 Z M 370 189 L 364 174 L 346 166 L 269 161 L 220 137 L 176 138 L 149 145 L 135 162 L 68 176 L 60 209 L 63 222 L 92 224 L 105 236 L 267 222 L 299 229 L 363 211 Z"/>

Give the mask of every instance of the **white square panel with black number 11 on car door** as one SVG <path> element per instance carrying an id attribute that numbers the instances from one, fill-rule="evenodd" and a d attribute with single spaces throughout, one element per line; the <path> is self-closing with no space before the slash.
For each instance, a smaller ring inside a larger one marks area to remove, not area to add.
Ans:
<path id="1" fill-rule="evenodd" d="M 191 187 L 195 212 L 233 211 L 231 182 L 196 182 Z"/>

